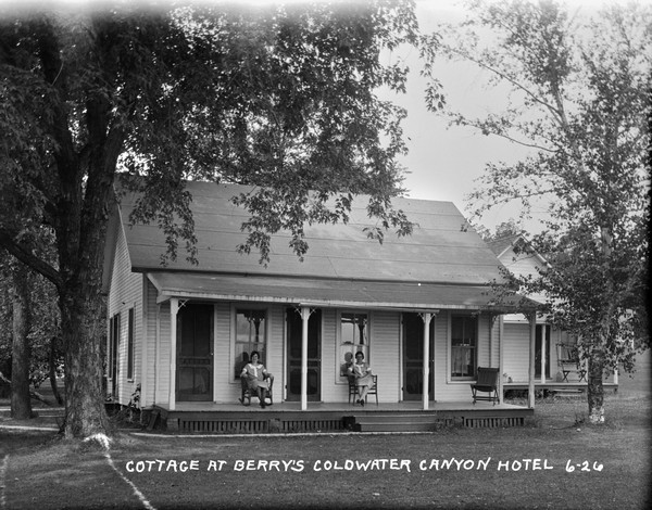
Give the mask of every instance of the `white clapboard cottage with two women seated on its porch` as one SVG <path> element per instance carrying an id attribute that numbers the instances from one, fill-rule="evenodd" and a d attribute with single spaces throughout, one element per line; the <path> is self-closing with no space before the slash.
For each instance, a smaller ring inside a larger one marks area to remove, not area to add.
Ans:
<path id="1" fill-rule="evenodd" d="M 514 308 L 490 306 L 486 284 L 500 278 L 499 263 L 452 203 L 397 199 L 418 227 L 379 244 L 363 231 L 371 220 L 361 201 L 349 224 L 306 229 L 303 262 L 288 235 L 274 235 L 263 266 L 236 251 L 248 215 L 229 199 L 244 188 L 188 190 L 197 266 L 183 256 L 161 266 L 160 229 L 128 225 L 134 195 L 115 211 L 105 270 L 109 398 L 127 404 L 139 385 L 141 406 L 168 425 L 191 411 L 260 415 L 238 403 L 242 364 L 258 350 L 275 375 L 274 412 L 350 412 L 346 367 L 362 352 L 378 375 L 377 410 L 472 409 L 477 368 L 500 365 L 497 319 Z M 505 406 L 475 408 L 514 407 Z"/>

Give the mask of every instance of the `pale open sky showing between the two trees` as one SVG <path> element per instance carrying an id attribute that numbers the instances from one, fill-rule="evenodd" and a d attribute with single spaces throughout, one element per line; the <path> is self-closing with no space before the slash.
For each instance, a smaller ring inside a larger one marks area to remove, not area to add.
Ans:
<path id="1" fill-rule="evenodd" d="M 490 1 L 490 0 L 486 0 Z M 615 0 L 618 1 L 618 0 Z M 650 0 L 642 0 L 643 2 Z M 602 0 L 566 0 L 572 12 L 590 12 L 595 10 Z M 416 0 L 416 15 L 422 33 L 435 31 L 438 22 L 461 21 L 465 16 L 463 3 L 459 0 Z M 416 50 L 401 50 L 391 59 L 405 59 L 411 66 L 405 95 L 386 95 L 394 103 L 408 110 L 408 118 L 403 122 L 404 136 L 409 155 L 401 163 L 409 170 L 404 181 L 408 196 L 424 200 L 440 200 L 453 202 L 468 218 L 466 212 L 474 182 L 488 162 L 515 162 L 526 155 L 526 152 L 498 137 L 487 137 L 474 132 L 469 128 L 448 127 L 448 122 L 435 113 L 428 112 L 424 101 L 425 80 L 418 76 L 419 64 Z M 443 86 L 447 103 L 453 107 L 464 106 L 467 113 L 477 112 L 480 115 L 504 99 L 500 93 L 482 88 L 480 73 L 471 65 L 447 64 L 435 71 Z M 479 224 L 494 230 L 497 225 L 511 218 L 518 218 L 516 204 L 496 207 L 482 218 Z M 538 230 L 535 219 L 523 225 L 530 233 Z M 539 217 L 543 218 L 541 211 Z"/>

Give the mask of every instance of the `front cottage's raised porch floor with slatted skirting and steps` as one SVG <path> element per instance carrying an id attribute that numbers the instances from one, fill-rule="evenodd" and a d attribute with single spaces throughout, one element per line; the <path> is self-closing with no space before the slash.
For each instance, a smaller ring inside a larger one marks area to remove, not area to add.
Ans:
<path id="1" fill-rule="evenodd" d="M 254 400 L 255 401 L 255 400 Z M 262 409 L 258 401 L 240 404 L 177 403 L 174 410 L 154 406 L 151 426 L 181 433 L 297 433 L 297 432 L 431 432 L 444 426 L 522 426 L 534 409 L 512 404 L 478 401 L 381 403 L 365 407 L 347 403 L 283 401 Z"/>

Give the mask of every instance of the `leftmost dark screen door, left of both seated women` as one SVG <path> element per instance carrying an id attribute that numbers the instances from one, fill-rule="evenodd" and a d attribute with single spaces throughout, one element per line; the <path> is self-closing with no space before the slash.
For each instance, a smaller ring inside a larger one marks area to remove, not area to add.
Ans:
<path id="1" fill-rule="evenodd" d="M 213 399 L 213 305 L 187 303 L 179 308 L 176 399 Z"/>

